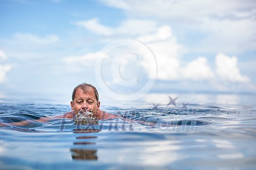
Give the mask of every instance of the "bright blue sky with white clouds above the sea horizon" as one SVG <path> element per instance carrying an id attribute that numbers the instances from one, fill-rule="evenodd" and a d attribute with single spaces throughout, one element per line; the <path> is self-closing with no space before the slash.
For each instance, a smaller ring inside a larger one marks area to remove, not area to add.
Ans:
<path id="1" fill-rule="evenodd" d="M 0 0 L 0 25 L 0 96 L 256 92 L 255 0 Z"/>

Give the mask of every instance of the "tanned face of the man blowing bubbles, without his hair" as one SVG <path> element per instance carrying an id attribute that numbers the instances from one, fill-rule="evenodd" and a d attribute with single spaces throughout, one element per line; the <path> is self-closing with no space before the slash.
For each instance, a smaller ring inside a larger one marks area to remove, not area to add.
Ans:
<path id="1" fill-rule="evenodd" d="M 74 101 L 71 101 L 71 109 L 74 110 L 76 115 L 79 111 L 85 112 L 87 110 L 93 112 L 94 116 L 96 116 L 99 105 L 100 102 L 97 102 L 93 88 L 89 88 L 87 91 L 78 88 Z"/>

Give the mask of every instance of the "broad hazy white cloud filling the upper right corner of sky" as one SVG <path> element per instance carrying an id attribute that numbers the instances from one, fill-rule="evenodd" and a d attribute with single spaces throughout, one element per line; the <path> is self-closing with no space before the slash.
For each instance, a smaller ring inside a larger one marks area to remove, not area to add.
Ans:
<path id="1" fill-rule="evenodd" d="M 255 50 L 254 0 L 100 0 L 125 11 L 128 18 L 151 18 L 196 37 L 191 51 L 241 53 Z M 203 35 L 202 35 L 203 34 Z M 211 46 L 209 46 L 211 44 Z"/>

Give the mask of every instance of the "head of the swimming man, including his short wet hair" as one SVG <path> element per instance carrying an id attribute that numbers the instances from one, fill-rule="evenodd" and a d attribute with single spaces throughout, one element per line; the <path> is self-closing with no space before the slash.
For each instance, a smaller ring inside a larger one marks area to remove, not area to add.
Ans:
<path id="1" fill-rule="evenodd" d="M 78 112 L 91 111 L 94 116 L 97 116 L 99 105 L 98 90 L 93 85 L 82 83 L 74 88 L 71 108 L 74 110 L 75 114 L 78 114 Z"/>

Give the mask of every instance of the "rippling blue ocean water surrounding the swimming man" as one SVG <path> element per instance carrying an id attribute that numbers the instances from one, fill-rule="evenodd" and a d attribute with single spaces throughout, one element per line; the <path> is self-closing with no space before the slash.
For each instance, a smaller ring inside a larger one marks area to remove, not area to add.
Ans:
<path id="1" fill-rule="evenodd" d="M 168 105 L 168 95 L 178 97 L 176 106 Z M 256 168 L 256 95 L 168 95 L 148 94 L 134 102 L 103 98 L 102 110 L 133 121 L 91 124 L 36 122 L 68 112 L 70 106 L 1 97 L 0 122 L 29 123 L 0 127 L 0 170 Z"/>

